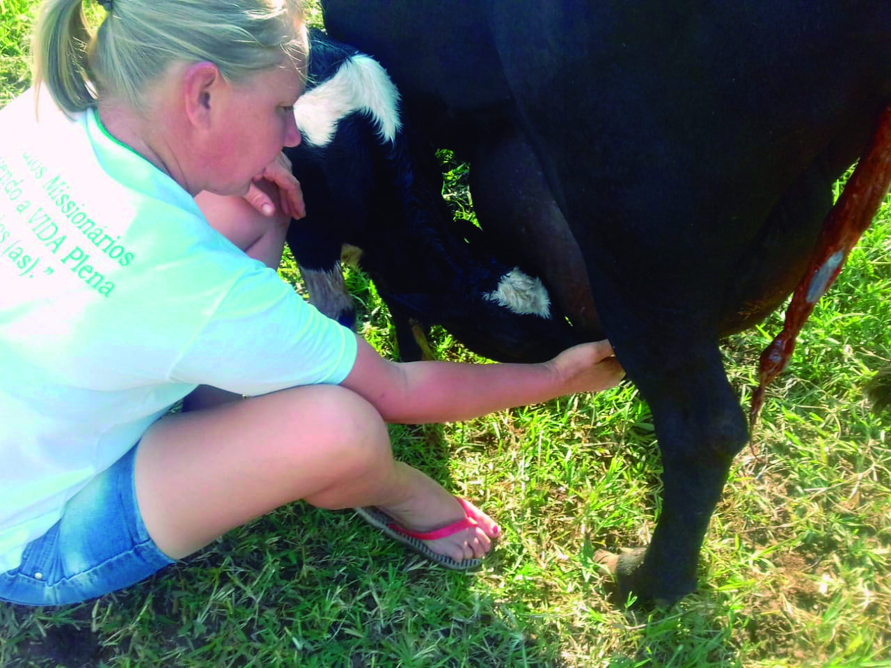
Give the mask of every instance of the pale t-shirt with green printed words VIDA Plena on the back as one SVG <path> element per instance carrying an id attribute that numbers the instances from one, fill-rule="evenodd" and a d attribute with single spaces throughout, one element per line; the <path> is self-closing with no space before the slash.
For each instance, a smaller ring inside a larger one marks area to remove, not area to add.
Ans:
<path id="1" fill-rule="evenodd" d="M 196 385 L 340 383 L 356 359 L 94 111 L 35 111 L 0 110 L 0 573 Z"/>

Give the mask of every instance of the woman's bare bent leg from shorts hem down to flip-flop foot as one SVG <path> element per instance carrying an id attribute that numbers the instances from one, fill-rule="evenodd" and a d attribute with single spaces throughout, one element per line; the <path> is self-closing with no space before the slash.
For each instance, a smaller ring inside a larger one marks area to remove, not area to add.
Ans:
<path id="1" fill-rule="evenodd" d="M 152 540 L 174 558 L 296 499 L 377 506 L 421 532 L 464 516 L 441 485 L 393 460 L 378 412 L 337 385 L 162 418 L 140 442 L 135 487 Z M 482 513 L 477 520 L 429 547 L 456 560 L 482 557 L 497 529 Z"/>

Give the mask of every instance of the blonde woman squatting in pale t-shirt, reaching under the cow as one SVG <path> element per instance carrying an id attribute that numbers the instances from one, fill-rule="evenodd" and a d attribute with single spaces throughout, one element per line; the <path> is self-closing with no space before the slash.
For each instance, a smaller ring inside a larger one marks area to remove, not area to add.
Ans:
<path id="1" fill-rule="evenodd" d="M 394 461 L 385 422 L 604 389 L 609 343 L 381 359 L 274 272 L 302 214 L 297 0 L 103 6 L 90 37 L 81 0 L 45 0 L 35 87 L 0 111 L 0 598 L 126 587 L 296 499 L 476 564 L 496 524 Z"/>

